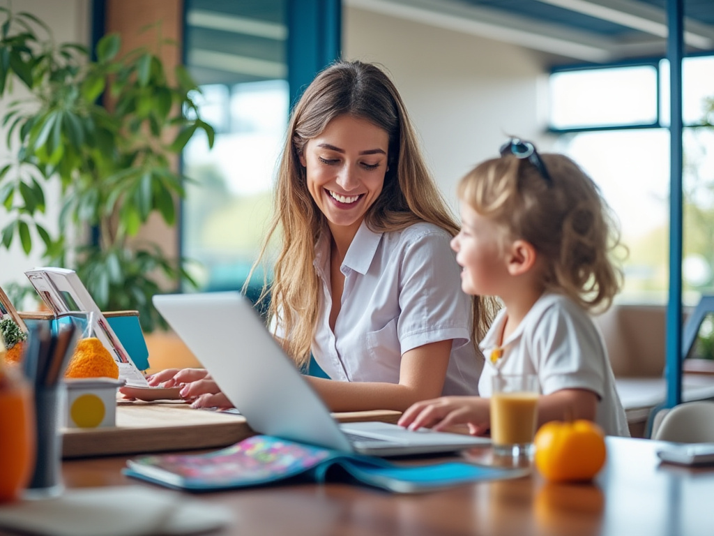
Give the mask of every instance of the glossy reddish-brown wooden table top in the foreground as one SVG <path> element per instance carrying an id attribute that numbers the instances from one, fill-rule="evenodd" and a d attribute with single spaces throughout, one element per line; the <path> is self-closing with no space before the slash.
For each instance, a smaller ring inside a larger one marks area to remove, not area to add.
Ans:
<path id="1" fill-rule="evenodd" d="M 546 484 L 531 474 L 426 495 L 331 483 L 192 497 L 231 508 L 236 522 L 222 535 L 713 535 L 714 468 L 660 465 L 655 451 L 661 445 L 608 438 L 608 463 L 587 485 Z M 487 447 L 466 456 L 494 462 Z M 121 475 L 125 460 L 67 460 L 64 482 L 71 488 L 151 486 Z"/>

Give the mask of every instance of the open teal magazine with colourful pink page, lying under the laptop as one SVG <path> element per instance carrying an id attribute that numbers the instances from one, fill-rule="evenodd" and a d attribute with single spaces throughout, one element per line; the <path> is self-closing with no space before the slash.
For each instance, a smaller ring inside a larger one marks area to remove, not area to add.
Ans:
<path id="1" fill-rule="evenodd" d="M 528 470 L 466 462 L 398 464 L 378 457 L 328 450 L 256 435 L 200 455 L 155 455 L 129 460 L 124 474 L 193 492 L 234 490 L 283 480 L 356 482 L 398 493 L 523 477 Z"/>

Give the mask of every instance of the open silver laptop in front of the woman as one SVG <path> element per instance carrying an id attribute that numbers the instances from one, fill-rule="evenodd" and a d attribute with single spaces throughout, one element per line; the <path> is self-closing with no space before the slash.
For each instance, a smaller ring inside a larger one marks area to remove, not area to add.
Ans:
<path id="1" fill-rule="evenodd" d="M 378 456 L 490 443 L 485 437 L 414 432 L 386 422 L 338 424 L 238 292 L 157 295 L 154 305 L 256 432 Z"/>

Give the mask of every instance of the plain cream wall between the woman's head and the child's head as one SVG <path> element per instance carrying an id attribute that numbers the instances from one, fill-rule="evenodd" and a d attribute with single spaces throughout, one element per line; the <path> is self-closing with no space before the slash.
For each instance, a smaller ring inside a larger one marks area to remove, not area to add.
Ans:
<path id="1" fill-rule="evenodd" d="M 343 58 L 391 73 L 443 193 L 508 134 L 546 149 L 546 58 L 498 41 L 345 6 Z"/>

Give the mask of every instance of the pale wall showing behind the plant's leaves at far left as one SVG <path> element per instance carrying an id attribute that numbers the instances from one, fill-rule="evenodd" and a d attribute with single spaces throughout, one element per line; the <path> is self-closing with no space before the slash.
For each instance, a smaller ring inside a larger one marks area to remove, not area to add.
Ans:
<path id="1" fill-rule="evenodd" d="M 54 39 L 58 42 L 72 41 L 87 44 L 89 42 L 89 0 L 21 0 L 14 1 L 14 9 L 16 11 L 28 11 L 37 16 L 41 21 L 50 26 Z M 6 19 L 1 18 L 0 22 Z M 5 96 L 0 100 L 0 116 L 4 115 L 6 106 L 14 99 L 27 96 L 27 92 L 22 90 L 21 84 L 14 84 L 14 94 Z M 4 167 L 9 162 L 12 162 L 12 152 L 5 143 L 6 131 L 0 130 L 0 168 Z M 10 176 L 6 176 L 7 180 Z M 59 188 L 53 185 L 54 189 L 47 192 L 49 195 L 46 199 L 47 204 L 47 221 L 56 222 L 57 214 L 59 214 Z M 8 216 L 4 208 L 0 208 L 0 229 L 5 227 L 8 222 Z M 54 227 L 49 227 L 54 231 Z M 39 238 L 38 244 L 39 242 Z M 4 286 L 9 282 L 26 283 L 24 272 L 34 268 L 40 263 L 41 247 L 34 248 L 31 257 L 26 257 L 22 251 L 17 237 L 11 252 L 5 249 L 0 249 L 0 286 Z"/>

